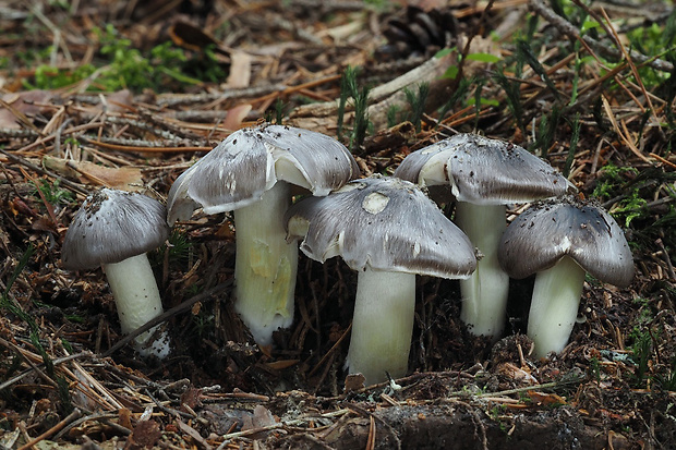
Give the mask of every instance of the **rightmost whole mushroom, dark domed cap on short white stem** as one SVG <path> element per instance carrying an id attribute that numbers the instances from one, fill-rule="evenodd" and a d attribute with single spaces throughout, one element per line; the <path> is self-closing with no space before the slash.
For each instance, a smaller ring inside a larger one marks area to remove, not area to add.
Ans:
<path id="1" fill-rule="evenodd" d="M 512 278 L 538 273 L 528 318 L 536 357 L 566 346 L 587 272 L 620 288 L 633 278 L 631 251 L 617 222 L 595 203 L 574 197 L 522 212 L 503 234 L 498 258 Z"/>

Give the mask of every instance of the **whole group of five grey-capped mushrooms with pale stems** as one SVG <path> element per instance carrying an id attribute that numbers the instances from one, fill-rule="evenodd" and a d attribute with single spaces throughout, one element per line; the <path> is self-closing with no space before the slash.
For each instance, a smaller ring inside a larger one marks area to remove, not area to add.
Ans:
<path id="1" fill-rule="evenodd" d="M 633 276 L 613 218 L 568 195 L 566 178 L 517 145 L 459 134 L 410 154 L 395 177 L 359 177 L 350 151 L 326 135 L 243 129 L 176 180 L 167 208 L 136 193 L 89 195 L 67 232 L 63 265 L 102 267 L 129 333 L 162 311 L 145 253 L 197 208 L 233 211 L 234 308 L 255 341 L 271 344 L 293 320 L 298 242 L 317 262 L 340 256 L 358 271 L 346 366 L 367 384 L 407 373 L 417 275 L 459 279 L 461 319 L 497 339 L 509 279 L 538 273 L 528 321 L 535 356 L 568 342 L 586 273 L 618 287 Z M 426 195 L 431 186 L 447 191 L 440 202 L 455 203 L 455 223 Z M 311 195 L 293 204 L 299 192 Z M 530 202 L 507 226 L 507 205 Z M 156 328 L 136 348 L 164 357 L 168 342 Z"/>

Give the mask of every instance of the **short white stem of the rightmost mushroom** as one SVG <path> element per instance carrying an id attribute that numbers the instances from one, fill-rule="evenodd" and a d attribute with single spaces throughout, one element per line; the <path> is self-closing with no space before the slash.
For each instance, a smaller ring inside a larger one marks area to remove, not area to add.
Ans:
<path id="1" fill-rule="evenodd" d="M 535 357 L 560 352 L 568 343 L 586 273 L 572 258 L 564 256 L 554 267 L 535 276 L 528 316 L 528 336 L 535 344 Z"/>

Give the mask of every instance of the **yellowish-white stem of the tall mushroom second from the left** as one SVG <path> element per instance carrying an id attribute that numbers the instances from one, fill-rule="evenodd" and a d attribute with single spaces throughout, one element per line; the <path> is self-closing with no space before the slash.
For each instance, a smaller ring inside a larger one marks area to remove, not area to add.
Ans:
<path id="1" fill-rule="evenodd" d="M 234 309 L 261 345 L 293 321 L 298 244 L 287 243 L 283 228 L 290 204 L 290 185 L 278 181 L 261 200 L 234 211 Z"/>

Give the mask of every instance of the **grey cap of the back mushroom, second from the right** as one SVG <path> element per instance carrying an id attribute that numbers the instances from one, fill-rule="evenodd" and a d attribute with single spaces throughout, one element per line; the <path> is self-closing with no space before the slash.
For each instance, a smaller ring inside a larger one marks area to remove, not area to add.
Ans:
<path id="1" fill-rule="evenodd" d="M 423 186 L 450 184 L 460 202 L 504 205 L 555 197 L 574 186 L 518 145 L 457 134 L 407 156 L 395 177 Z"/>

